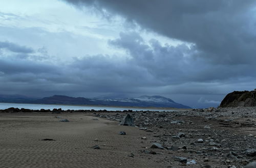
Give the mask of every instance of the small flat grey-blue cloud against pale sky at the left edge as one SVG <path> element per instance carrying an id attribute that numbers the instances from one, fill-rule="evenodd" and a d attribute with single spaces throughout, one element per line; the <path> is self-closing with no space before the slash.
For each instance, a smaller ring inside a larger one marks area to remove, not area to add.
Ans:
<path id="1" fill-rule="evenodd" d="M 8 42 L 8 41 L 5 41 L 5 42 L 0 41 L 0 50 L 1 49 L 7 49 L 9 51 L 17 52 L 17 53 L 32 53 L 32 52 L 34 52 L 34 50 L 32 48 L 17 45 L 17 44 Z"/>

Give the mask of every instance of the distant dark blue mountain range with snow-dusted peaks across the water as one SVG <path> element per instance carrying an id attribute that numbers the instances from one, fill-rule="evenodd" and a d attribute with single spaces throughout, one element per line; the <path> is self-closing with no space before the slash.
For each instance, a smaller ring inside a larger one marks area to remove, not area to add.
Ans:
<path id="1" fill-rule="evenodd" d="M 81 104 L 81 105 L 103 105 L 103 106 L 135 106 L 135 107 L 173 107 L 191 108 L 176 103 L 172 99 L 163 96 L 140 96 L 137 98 L 84 98 L 54 95 L 40 99 L 29 98 L 20 95 L 0 95 L 0 102 L 9 103 L 35 103 L 35 104 Z"/>

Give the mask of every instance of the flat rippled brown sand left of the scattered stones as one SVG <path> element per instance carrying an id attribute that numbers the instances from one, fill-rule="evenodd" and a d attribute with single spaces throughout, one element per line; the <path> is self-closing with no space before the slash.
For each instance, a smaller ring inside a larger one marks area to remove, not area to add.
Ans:
<path id="1" fill-rule="evenodd" d="M 147 157 L 128 156 L 137 155 L 146 134 L 136 127 L 84 114 L 55 116 L 0 114 L 0 167 L 159 167 Z M 41 141 L 45 138 L 56 141 Z M 100 149 L 91 148 L 95 145 Z"/>

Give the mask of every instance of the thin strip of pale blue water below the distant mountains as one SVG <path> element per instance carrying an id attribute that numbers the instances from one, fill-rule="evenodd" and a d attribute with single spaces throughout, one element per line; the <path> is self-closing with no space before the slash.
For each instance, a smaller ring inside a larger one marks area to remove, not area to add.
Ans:
<path id="1" fill-rule="evenodd" d="M 157 109 L 157 108 L 131 108 L 131 107 L 100 107 L 100 106 L 79 106 L 79 105 L 58 105 L 58 104 L 22 104 L 22 103 L 0 103 L 0 109 L 6 109 L 6 108 L 28 108 L 28 109 L 53 109 L 53 108 L 61 108 L 62 110 L 67 110 L 67 109 L 73 109 L 73 110 L 79 110 L 79 109 L 94 109 L 94 110 L 151 110 L 151 111 L 174 111 L 174 110 L 164 110 L 164 109 Z"/>

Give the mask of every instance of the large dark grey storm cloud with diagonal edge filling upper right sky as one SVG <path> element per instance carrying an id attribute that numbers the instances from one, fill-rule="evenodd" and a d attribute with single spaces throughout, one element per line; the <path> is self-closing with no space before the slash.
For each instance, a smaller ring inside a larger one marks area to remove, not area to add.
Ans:
<path id="1" fill-rule="evenodd" d="M 143 29 L 194 43 L 195 57 L 214 64 L 255 61 L 255 1 L 66 0 L 137 22 Z"/>

